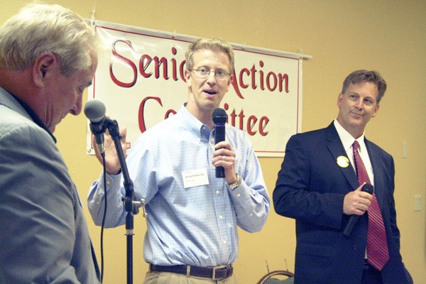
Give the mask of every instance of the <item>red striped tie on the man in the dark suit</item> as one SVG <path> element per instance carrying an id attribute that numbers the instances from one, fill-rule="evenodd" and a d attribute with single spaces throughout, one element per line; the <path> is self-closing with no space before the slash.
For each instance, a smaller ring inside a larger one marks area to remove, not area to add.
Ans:
<path id="1" fill-rule="evenodd" d="M 364 182 L 371 183 L 370 178 L 368 178 L 366 166 L 359 155 L 358 148 L 359 143 L 355 141 L 352 144 L 352 149 L 354 150 L 354 162 L 359 185 L 362 185 Z M 368 207 L 367 260 L 378 271 L 381 271 L 389 260 L 385 224 L 383 224 L 383 217 L 375 194 L 373 194 L 373 201 L 370 207 Z"/>

